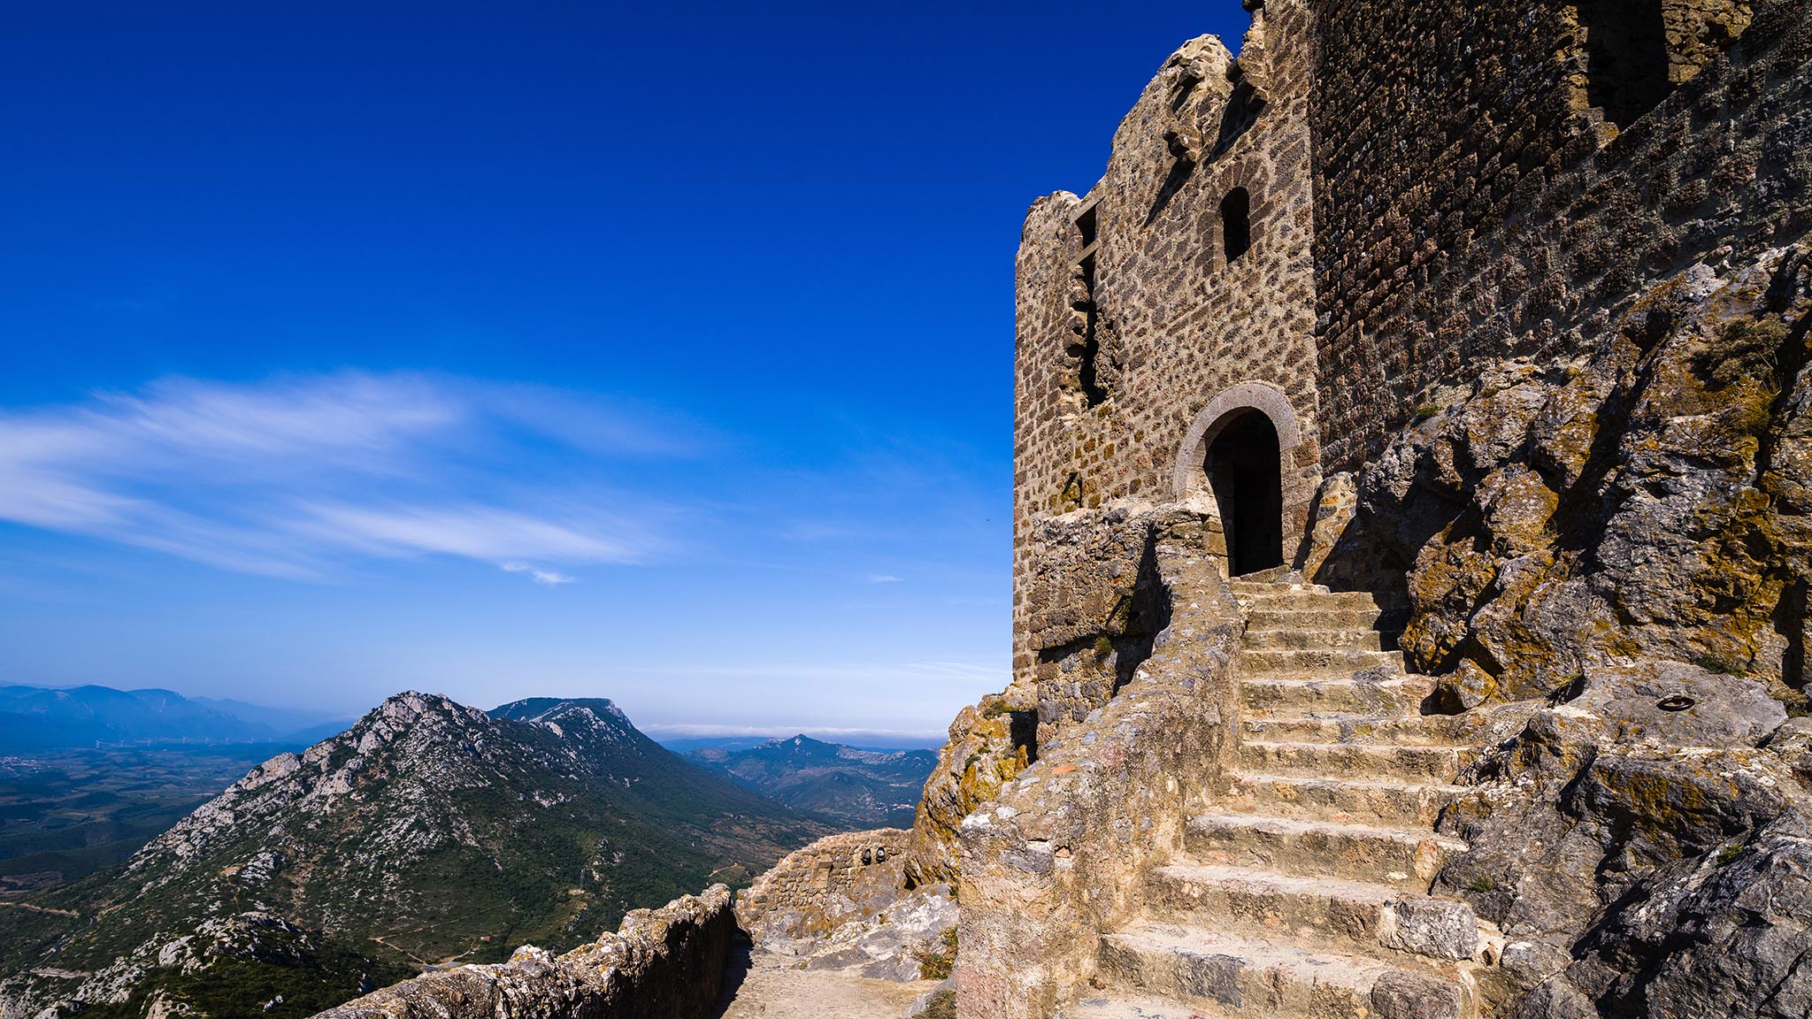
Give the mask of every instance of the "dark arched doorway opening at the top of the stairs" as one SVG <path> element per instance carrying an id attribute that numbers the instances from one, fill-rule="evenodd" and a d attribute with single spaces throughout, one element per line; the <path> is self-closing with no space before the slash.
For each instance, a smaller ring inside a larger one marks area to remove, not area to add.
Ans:
<path id="1" fill-rule="evenodd" d="M 1248 410 L 1230 421 L 1209 444 L 1203 466 L 1221 511 L 1227 573 L 1283 566 L 1283 470 L 1270 419 Z"/>

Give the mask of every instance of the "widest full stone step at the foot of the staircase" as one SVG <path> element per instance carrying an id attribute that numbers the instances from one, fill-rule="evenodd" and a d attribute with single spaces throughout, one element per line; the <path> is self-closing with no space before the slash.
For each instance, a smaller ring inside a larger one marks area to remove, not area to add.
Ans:
<path id="1" fill-rule="evenodd" d="M 1402 985 L 1439 1001 L 1417 1012 L 1417 1019 L 1464 1015 L 1464 994 L 1453 981 L 1363 956 L 1316 954 L 1261 937 L 1152 921 L 1104 936 L 1100 972 L 1131 992 L 1189 1001 L 1203 1015 L 1361 1019 L 1383 1014 L 1373 990 L 1388 997 Z"/>

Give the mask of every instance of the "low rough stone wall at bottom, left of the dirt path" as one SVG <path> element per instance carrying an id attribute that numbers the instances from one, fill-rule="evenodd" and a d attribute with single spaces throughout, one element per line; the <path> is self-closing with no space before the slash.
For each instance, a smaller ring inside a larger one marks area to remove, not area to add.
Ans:
<path id="1" fill-rule="evenodd" d="M 730 888 L 632 910 L 616 934 L 554 956 L 458 966 L 391 985 L 315 1019 L 703 1019 L 736 941 Z"/>

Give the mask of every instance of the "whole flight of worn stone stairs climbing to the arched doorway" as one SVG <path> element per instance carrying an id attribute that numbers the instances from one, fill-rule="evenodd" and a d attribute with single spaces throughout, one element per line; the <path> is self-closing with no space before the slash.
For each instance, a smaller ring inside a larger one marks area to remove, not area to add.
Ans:
<path id="1" fill-rule="evenodd" d="M 1495 948 L 1430 898 L 1466 845 L 1433 821 L 1479 752 L 1477 720 L 1386 651 L 1370 595 L 1234 582 L 1247 613 L 1236 771 L 1143 916 L 1100 943 L 1067 1019 L 1471 1019 Z"/>

